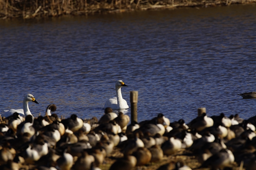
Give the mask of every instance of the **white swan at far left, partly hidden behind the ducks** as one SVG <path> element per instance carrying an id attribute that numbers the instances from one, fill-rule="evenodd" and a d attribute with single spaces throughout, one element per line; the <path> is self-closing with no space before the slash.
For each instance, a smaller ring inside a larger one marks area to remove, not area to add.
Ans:
<path id="1" fill-rule="evenodd" d="M 29 108 L 28 108 L 28 102 L 34 102 L 34 103 L 39 104 L 32 94 L 27 94 L 23 99 L 23 109 L 5 110 L 6 112 L 1 114 L 1 116 L 7 118 L 8 116 L 11 116 L 15 112 L 19 113 L 19 115 L 22 116 L 22 117 L 32 115 Z"/>

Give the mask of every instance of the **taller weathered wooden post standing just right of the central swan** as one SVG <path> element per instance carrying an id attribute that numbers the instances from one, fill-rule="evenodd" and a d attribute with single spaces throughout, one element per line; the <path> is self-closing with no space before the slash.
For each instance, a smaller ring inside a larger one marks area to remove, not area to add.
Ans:
<path id="1" fill-rule="evenodd" d="M 138 122 L 137 118 L 137 103 L 138 103 L 138 91 L 130 91 L 131 102 L 131 122 Z"/>

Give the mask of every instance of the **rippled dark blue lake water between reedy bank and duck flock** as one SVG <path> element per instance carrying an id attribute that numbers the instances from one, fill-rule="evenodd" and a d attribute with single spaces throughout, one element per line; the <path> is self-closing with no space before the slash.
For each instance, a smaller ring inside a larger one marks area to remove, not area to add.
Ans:
<path id="1" fill-rule="evenodd" d="M 123 98 L 139 92 L 138 121 L 163 113 L 191 121 L 209 116 L 250 118 L 256 99 L 256 5 L 133 11 L 1 22 L 0 111 L 34 116 L 50 103 L 66 118 L 104 113 L 123 80 Z M 117 111 L 116 111 L 117 112 Z M 130 115 L 130 109 L 124 110 Z"/>

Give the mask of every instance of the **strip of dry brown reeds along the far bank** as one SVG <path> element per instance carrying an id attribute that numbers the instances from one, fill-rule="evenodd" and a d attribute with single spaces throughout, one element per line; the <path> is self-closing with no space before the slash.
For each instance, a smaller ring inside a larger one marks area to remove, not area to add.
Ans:
<path id="1" fill-rule="evenodd" d="M 202 8 L 255 3 L 256 0 L 0 0 L 0 18 L 89 15 L 178 7 Z"/>

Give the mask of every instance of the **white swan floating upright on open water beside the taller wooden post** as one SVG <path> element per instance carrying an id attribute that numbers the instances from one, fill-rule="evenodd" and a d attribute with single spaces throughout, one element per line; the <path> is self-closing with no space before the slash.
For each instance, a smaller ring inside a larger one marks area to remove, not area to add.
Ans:
<path id="1" fill-rule="evenodd" d="M 126 87 L 126 85 L 125 83 L 123 83 L 122 80 L 118 80 L 117 83 L 115 83 L 115 92 L 117 94 L 117 97 L 113 97 L 112 99 L 107 100 L 107 102 L 105 103 L 104 109 L 107 107 L 110 107 L 112 109 L 129 108 L 126 100 L 123 99 L 122 97 L 121 87 Z"/>

